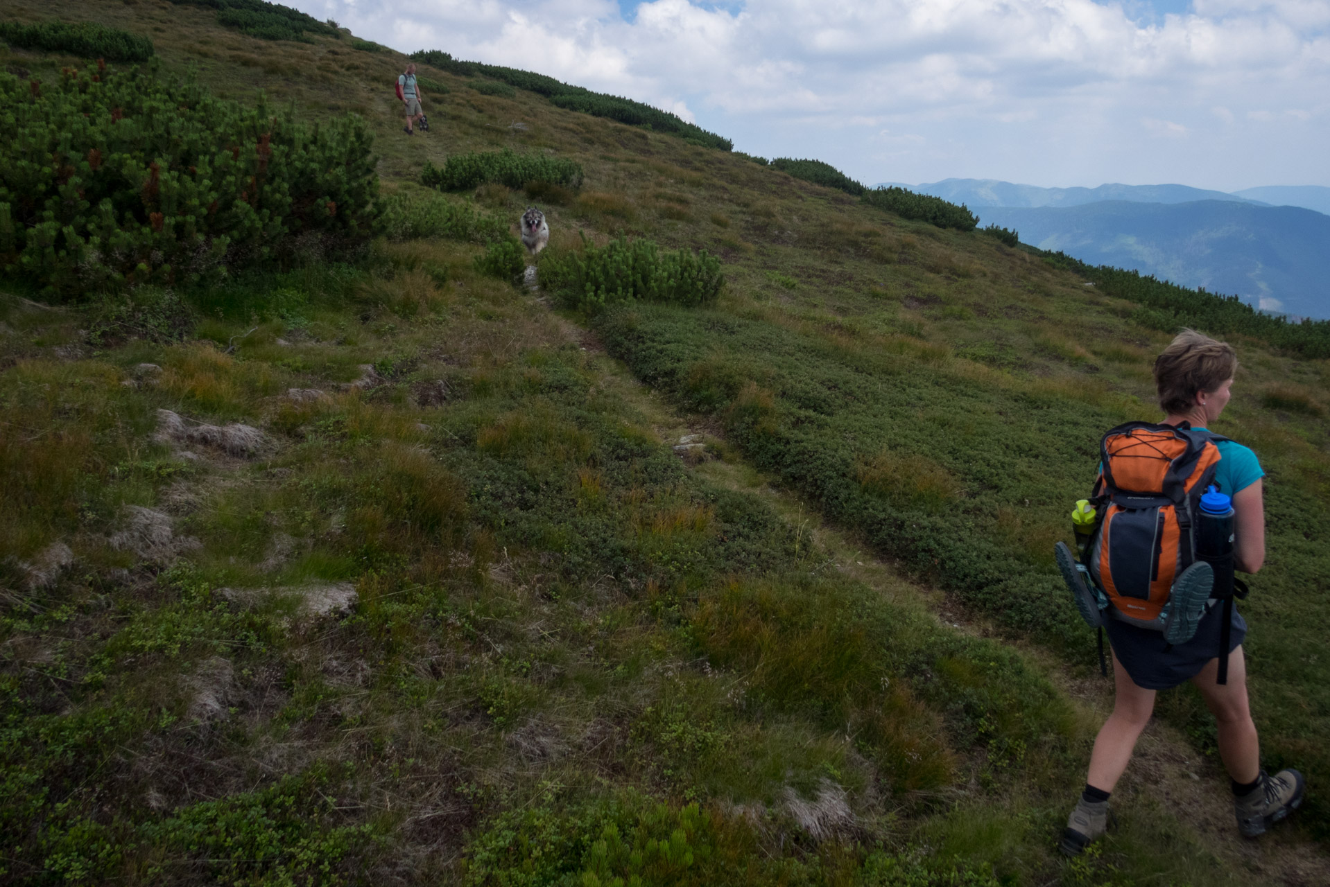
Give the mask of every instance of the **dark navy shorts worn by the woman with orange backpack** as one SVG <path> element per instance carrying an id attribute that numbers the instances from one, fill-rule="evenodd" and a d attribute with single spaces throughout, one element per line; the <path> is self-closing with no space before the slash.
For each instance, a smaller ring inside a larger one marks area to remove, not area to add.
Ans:
<path id="1" fill-rule="evenodd" d="M 1196 637 L 1186 644 L 1169 648 L 1164 632 L 1152 632 L 1109 618 L 1104 625 L 1113 654 L 1123 664 L 1132 682 L 1145 690 L 1169 690 L 1178 684 L 1194 678 L 1205 665 L 1220 656 L 1220 628 L 1224 621 L 1224 605 L 1213 604 L 1196 626 Z M 1236 650 L 1246 637 L 1246 620 L 1238 616 L 1233 606 L 1233 633 L 1229 637 L 1229 653 Z"/>

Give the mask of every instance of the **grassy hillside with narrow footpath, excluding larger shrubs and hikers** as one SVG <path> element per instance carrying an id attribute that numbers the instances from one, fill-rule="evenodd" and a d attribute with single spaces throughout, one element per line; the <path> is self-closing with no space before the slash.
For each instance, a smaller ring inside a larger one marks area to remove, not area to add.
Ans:
<path id="1" fill-rule="evenodd" d="M 149 36 L 168 73 L 307 122 L 354 112 L 388 206 L 359 250 L 206 285 L 74 305 L 0 287 L 0 879 L 1330 871 L 1327 362 L 1230 336 L 1218 428 L 1270 471 L 1253 698 L 1309 809 L 1237 846 L 1180 690 L 1119 830 L 1064 863 L 1105 697 L 1049 553 L 1099 434 L 1154 415 L 1168 336 L 1133 303 L 483 77 L 423 68 L 432 129 L 407 137 L 406 60 L 346 33 L 265 41 L 146 0 L 0 13 Z M 47 82 L 82 64 L 0 57 Z M 501 148 L 576 161 L 581 188 L 416 184 Z M 557 310 L 476 263 L 531 202 L 543 274 L 626 235 L 720 255 L 726 286 Z"/>

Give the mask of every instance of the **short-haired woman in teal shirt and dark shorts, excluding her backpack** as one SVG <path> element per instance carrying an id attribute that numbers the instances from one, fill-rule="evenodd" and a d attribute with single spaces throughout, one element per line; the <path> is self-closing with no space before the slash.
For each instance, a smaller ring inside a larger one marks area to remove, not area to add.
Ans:
<path id="1" fill-rule="evenodd" d="M 1184 330 L 1154 360 L 1154 382 L 1165 424 L 1192 423 L 1209 428 L 1224 412 L 1238 362 L 1232 346 L 1193 330 Z M 1254 573 L 1265 561 L 1265 507 L 1261 479 L 1265 471 L 1256 453 L 1242 444 L 1217 443 L 1220 461 L 1214 484 L 1233 500 L 1233 553 L 1237 569 Z M 1154 709 L 1154 694 L 1192 681 L 1214 715 L 1220 758 L 1229 773 L 1238 831 L 1254 838 L 1285 818 L 1302 801 L 1303 779 L 1297 770 L 1269 775 L 1261 769 L 1260 742 L 1248 706 L 1246 661 L 1242 638 L 1246 622 L 1232 609 L 1229 674 L 1218 684 L 1217 652 L 1224 606 L 1210 606 L 1196 636 L 1170 646 L 1162 632 L 1105 621 L 1113 650 L 1116 698 L 1113 713 L 1095 739 L 1085 790 L 1063 832 L 1061 850 L 1080 854 L 1108 827 L 1108 798 L 1127 770 L 1136 739 Z"/>

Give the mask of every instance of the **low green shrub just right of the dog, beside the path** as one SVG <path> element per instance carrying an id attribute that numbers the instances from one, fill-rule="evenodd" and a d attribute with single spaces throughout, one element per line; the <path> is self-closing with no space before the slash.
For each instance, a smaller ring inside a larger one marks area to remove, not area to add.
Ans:
<path id="1" fill-rule="evenodd" d="M 633 299 L 684 306 L 714 302 L 725 277 L 721 261 L 706 250 L 661 254 L 653 241 L 618 238 L 581 253 L 548 255 L 540 265 L 540 282 L 568 307 L 598 311 Z"/>

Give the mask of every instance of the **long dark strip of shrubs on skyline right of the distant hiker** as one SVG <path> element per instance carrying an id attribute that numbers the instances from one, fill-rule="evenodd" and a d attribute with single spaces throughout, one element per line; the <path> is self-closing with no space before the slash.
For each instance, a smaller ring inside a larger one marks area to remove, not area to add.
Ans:
<path id="1" fill-rule="evenodd" d="M 729 138 L 710 133 L 668 110 L 661 110 L 660 108 L 633 101 L 632 98 L 573 86 L 531 70 L 487 65 L 480 61 L 462 61 L 439 49 L 414 52 L 411 53 L 411 60 L 462 77 L 489 77 L 509 86 L 544 96 L 551 104 L 567 110 L 577 110 L 592 117 L 608 117 L 629 126 L 642 126 L 658 133 L 670 133 L 704 148 L 730 150 L 734 146 Z M 472 84 L 472 88 L 484 92 L 479 85 Z"/>

